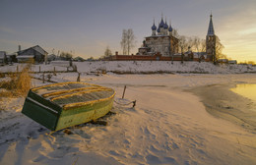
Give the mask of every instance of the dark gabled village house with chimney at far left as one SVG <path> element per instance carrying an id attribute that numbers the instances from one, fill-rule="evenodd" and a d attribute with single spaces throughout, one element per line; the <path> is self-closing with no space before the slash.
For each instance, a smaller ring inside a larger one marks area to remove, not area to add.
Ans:
<path id="1" fill-rule="evenodd" d="M 25 50 L 21 50 L 21 46 L 19 45 L 19 51 L 17 52 L 17 54 L 17 59 L 19 63 L 42 63 L 45 61 L 45 58 L 48 53 L 45 50 L 43 50 L 39 45 L 32 46 Z"/>

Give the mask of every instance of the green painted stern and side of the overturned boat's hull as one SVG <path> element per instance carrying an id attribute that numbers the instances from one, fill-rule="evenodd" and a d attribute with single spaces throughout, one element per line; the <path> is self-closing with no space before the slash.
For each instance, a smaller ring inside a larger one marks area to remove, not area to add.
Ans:
<path id="1" fill-rule="evenodd" d="M 110 95 L 109 97 L 102 97 L 88 102 L 76 103 L 73 101 L 70 104 L 59 105 L 52 101 L 53 99 L 45 99 L 41 94 L 35 93 L 31 89 L 26 98 L 22 113 L 51 131 L 58 131 L 104 116 L 112 109 L 114 94 L 115 92 L 112 90 L 108 95 L 105 94 L 107 96 Z M 77 95 L 80 96 L 81 94 Z M 74 97 L 74 94 L 72 96 Z M 65 99 L 67 98 L 65 97 Z"/>

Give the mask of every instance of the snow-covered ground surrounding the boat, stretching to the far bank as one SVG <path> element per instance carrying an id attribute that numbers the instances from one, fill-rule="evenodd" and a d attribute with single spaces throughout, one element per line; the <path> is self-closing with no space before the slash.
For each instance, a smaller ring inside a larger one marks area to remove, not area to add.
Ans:
<path id="1" fill-rule="evenodd" d="M 82 73 L 81 82 L 114 88 L 117 102 L 127 85 L 123 101 L 137 100 L 136 107 L 114 103 L 116 114 L 104 118 L 107 126 L 86 124 L 70 128 L 71 135 L 60 131 L 49 136 L 48 130 L 21 113 L 25 98 L 1 98 L 0 164 L 256 164 L 256 131 L 210 114 L 202 102 L 205 100 L 193 91 L 204 91 L 211 85 L 256 83 L 256 74 L 236 74 L 255 72 L 255 67 L 194 62 L 183 66 L 170 62 L 76 65 Z M 41 65 L 40 69 L 52 70 L 54 66 L 66 70 L 65 64 Z M 16 71 L 16 66 L 0 69 Z M 32 69 L 38 70 L 38 65 Z M 89 74 L 97 70 L 211 74 Z M 77 77 L 77 73 L 58 73 L 52 80 L 76 81 Z M 33 85 L 42 83 L 34 80 Z"/>

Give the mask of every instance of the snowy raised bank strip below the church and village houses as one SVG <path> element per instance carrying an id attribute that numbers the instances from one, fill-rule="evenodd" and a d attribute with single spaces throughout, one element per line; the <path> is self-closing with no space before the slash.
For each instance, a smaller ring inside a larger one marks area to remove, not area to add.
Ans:
<path id="1" fill-rule="evenodd" d="M 218 65 L 207 62 L 180 62 L 174 61 L 96 61 L 73 62 L 78 72 L 90 73 L 104 70 L 116 73 L 197 73 L 197 74 L 240 74 L 256 73 L 256 66 L 251 65 Z M 0 67 L 1 72 L 16 72 L 23 64 Z M 33 72 L 43 71 L 67 71 L 68 61 L 53 61 L 50 65 L 33 65 Z M 21 71 L 21 69 L 20 69 Z"/>

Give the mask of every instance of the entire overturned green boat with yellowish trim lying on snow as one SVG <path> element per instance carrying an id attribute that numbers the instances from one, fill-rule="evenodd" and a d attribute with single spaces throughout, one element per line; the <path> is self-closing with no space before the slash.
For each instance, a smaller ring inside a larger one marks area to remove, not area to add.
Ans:
<path id="1" fill-rule="evenodd" d="M 53 83 L 32 88 L 22 113 L 51 131 L 96 120 L 113 105 L 112 88 L 90 83 Z"/>

